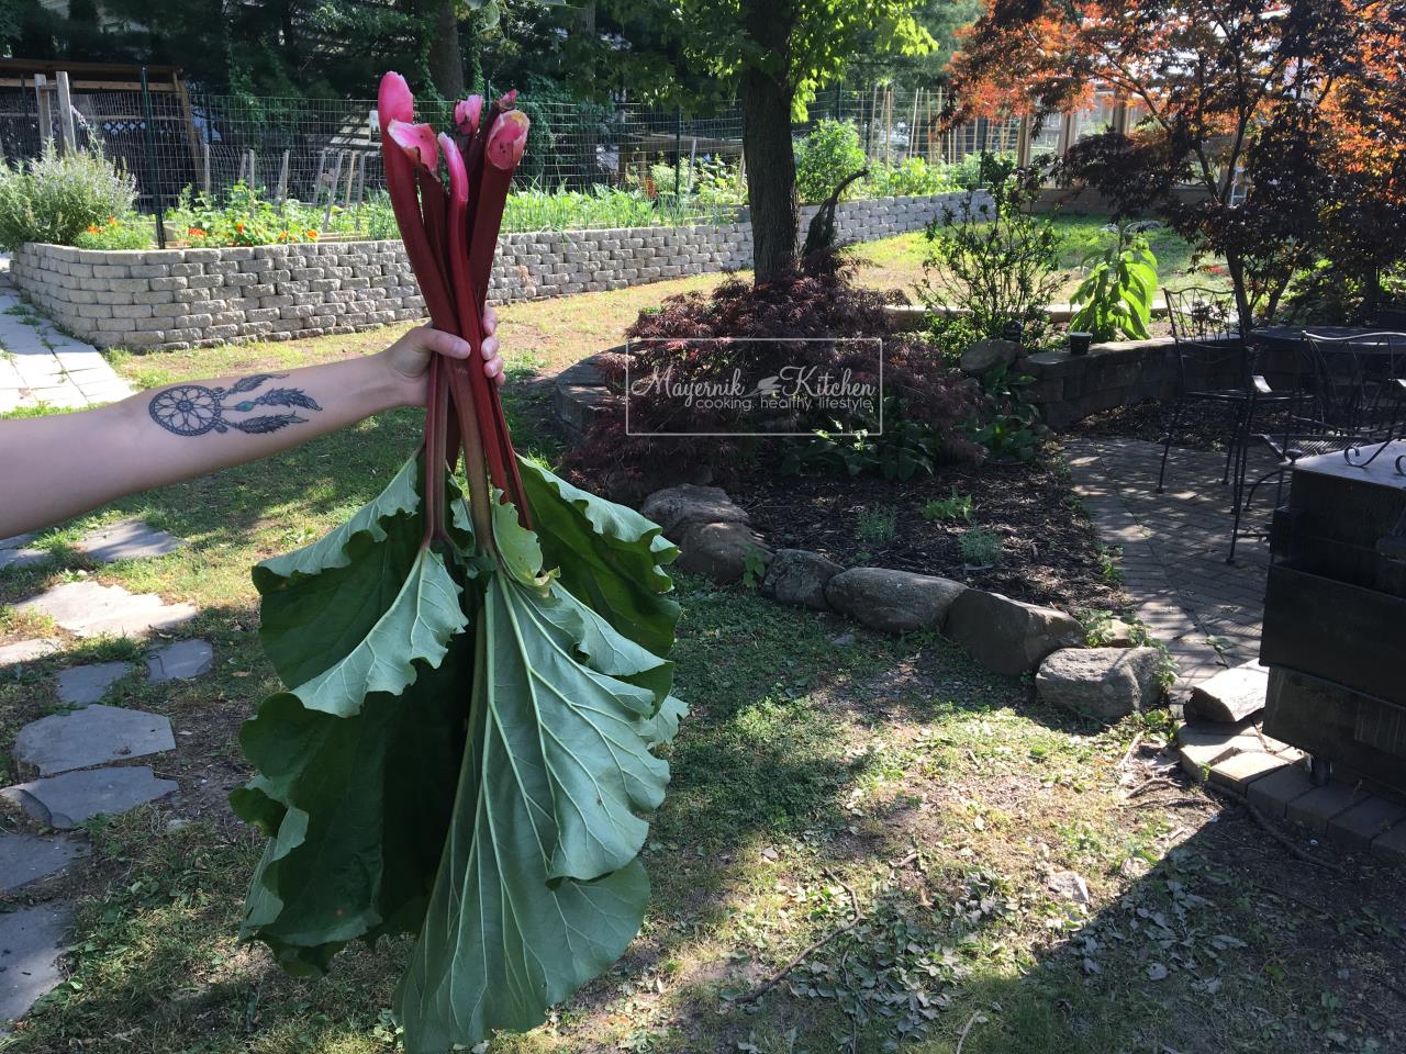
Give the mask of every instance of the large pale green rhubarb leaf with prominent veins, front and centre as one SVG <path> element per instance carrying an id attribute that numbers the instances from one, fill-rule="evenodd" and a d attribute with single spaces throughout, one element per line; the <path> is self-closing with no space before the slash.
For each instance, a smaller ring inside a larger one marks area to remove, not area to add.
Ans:
<path id="1" fill-rule="evenodd" d="M 458 800 L 401 989 L 409 1054 L 534 1027 L 624 953 L 648 901 L 638 814 L 668 780 L 650 749 L 682 710 L 669 663 L 541 575 L 502 509 Z"/>

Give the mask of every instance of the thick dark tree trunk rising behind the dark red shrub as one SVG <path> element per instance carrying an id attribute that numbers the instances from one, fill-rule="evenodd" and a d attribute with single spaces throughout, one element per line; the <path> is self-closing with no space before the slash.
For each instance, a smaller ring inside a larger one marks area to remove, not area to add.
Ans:
<path id="1" fill-rule="evenodd" d="M 742 152 L 752 212 L 752 267 L 756 282 L 796 267 L 796 155 L 790 114 L 794 91 L 786 83 L 790 37 L 787 4 L 745 0 L 748 35 L 765 49 L 772 76 L 755 63 L 742 70 Z"/>

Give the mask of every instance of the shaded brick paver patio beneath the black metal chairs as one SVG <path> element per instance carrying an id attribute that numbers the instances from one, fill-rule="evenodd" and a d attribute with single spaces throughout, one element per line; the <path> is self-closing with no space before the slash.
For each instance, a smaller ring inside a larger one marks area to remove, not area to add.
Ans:
<path id="1" fill-rule="evenodd" d="M 1078 438 L 1066 443 L 1066 453 L 1099 540 L 1122 549 L 1133 614 L 1177 661 L 1178 690 L 1258 658 L 1268 544 L 1241 540 L 1236 562 L 1226 564 L 1225 455 L 1173 448 L 1159 495 L 1160 444 Z"/>

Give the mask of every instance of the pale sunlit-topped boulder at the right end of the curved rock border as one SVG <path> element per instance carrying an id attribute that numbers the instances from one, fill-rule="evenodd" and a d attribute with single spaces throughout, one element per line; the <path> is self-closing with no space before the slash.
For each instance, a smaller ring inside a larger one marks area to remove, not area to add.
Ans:
<path id="1" fill-rule="evenodd" d="M 1116 721 L 1157 703 L 1156 648 L 1062 648 L 1040 663 L 1035 690 L 1045 703 Z"/>

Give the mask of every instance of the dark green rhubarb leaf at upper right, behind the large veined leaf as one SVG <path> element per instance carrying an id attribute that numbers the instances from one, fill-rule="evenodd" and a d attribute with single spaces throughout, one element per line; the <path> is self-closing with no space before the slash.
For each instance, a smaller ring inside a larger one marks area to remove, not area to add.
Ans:
<path id="1" fill-rule="evenodd" d="M 519 458 L 533 526 L 561 585 L 657 655 L 673 646 L 679 606 L 664 566 L 679 557 L 657 523 Z"/>

